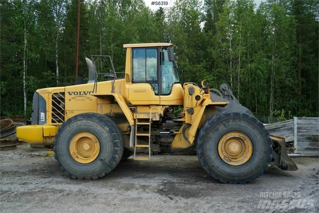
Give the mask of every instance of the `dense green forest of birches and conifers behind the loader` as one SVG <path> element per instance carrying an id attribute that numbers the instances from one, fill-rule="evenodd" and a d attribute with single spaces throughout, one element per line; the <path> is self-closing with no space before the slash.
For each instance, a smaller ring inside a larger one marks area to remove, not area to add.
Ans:
<path id="1" fill-rule="evenodd" d="M 75 82 L 78 1 L 7 0 L 0 6 L 1 115 L 29 118 L 36 89 Z M 100 54 L 111 55 L 115 70 L 124 71 L 123 44 L 170 37 L 182 82 L 207 79 L 217 89 L 228 83 L 265 123 L 318 116 L 318 9 L 318 1 L 267 0 L 256 8 L 253 0 L 176 0 L 156 11 L 143 0 L 81 1 L 78 74 L 87 80 L 85 57 Z"/>

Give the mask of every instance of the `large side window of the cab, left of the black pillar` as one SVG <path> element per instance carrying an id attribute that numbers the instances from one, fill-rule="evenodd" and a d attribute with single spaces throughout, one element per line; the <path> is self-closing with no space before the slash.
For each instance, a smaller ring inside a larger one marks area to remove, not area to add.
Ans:
<path id="1" fill-rule="evenodd" d="M 157 48 L 133 48 L 133 82 L 150 83 L 158 94 Z"/>

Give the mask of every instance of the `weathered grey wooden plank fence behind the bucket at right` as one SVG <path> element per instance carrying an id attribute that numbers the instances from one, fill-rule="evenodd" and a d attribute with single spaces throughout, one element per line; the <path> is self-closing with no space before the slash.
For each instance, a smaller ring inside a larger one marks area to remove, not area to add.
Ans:
<path id="1" fill-rule="evenodd" d="M 293 120 L 265 125 L 269 134 L 285 138 L 294 154 L 318 155 L 319 118 L 294 117 Z"/>

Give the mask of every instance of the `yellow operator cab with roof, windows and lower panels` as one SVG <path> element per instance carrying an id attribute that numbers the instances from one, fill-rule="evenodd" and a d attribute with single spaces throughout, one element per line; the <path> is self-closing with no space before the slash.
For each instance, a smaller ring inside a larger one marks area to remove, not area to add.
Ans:
<path id="1" fill-rule="evenodd" d="M 132 105 L 183 105 L 171 43 L 125 44 L 125 95 Z"/>

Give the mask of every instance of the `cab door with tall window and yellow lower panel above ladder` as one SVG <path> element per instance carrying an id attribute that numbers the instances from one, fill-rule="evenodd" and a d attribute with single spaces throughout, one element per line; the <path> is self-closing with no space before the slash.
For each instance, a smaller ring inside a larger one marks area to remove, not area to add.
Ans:
<path id="1" fill-rule="evenodd" d="M 159 104 L 159 48 L 132 48 L 132 84 L 128 99 L 132 105 Z"/>

